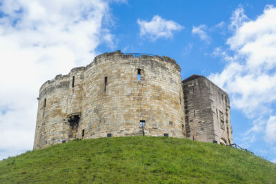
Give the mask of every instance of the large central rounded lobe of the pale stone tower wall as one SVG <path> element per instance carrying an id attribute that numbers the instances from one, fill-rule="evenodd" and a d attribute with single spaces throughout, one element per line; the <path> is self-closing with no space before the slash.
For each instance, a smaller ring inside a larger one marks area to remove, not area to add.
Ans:
<path id="1" fill-rule="evenodd" d="M 83 139 L 142 135 L 140 121 L 145 135 L 184 137 L 180 68 L 172 59 L 102 54 L 84 73 L 83 94 Z"/>

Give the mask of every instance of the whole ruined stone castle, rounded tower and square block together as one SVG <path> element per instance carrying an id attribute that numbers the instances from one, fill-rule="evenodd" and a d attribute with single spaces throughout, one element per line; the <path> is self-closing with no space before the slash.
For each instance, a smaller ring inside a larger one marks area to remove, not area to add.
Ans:
<path id="1" fill-rule="evenodd" d="M 228 94 L 180 70 L 169 57 L 117 51 L 57 75 L 39 90 L 34 149 L 135 135 L 233 143 Z"/>

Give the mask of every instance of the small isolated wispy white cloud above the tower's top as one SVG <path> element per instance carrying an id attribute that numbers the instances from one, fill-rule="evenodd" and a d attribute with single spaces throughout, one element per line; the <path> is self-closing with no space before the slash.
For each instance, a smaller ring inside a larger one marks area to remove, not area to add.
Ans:
<path id="1" fill-rule="evenodd" d="M 175 21 L 167 21 L 158 15 L 152 17 L 151 21 L 142 21 L 138 19 L 137 23 L 140 28 L 140 37 L 146 37 L 151 41 L 155 41 L 159 38 L 171 38 L 173 36 L 172 32 L 184 29 L 183 26 Z"/>

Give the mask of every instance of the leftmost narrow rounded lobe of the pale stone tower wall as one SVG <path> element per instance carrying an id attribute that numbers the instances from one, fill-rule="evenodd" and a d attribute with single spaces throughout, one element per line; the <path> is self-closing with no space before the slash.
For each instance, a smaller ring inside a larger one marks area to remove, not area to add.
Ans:
<path id="1" fill-rule="evenodd" d="M 58 75 L 41 86 L 34 148 L 46 147 L 66 139 L 69 83 L 69 75 Z"/>

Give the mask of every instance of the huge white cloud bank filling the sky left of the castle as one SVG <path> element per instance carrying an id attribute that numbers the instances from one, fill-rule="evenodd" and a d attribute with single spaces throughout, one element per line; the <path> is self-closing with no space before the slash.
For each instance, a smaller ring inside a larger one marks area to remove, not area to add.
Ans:
<path id="1" fill-rule="evenodd" d="M 106 1 L 3 0 L 0 12 L 3 159 L 32 149 L 40 86 L 90 63 L 100 43 L 115 43 L 103 28 L 111 17 Z"/>

